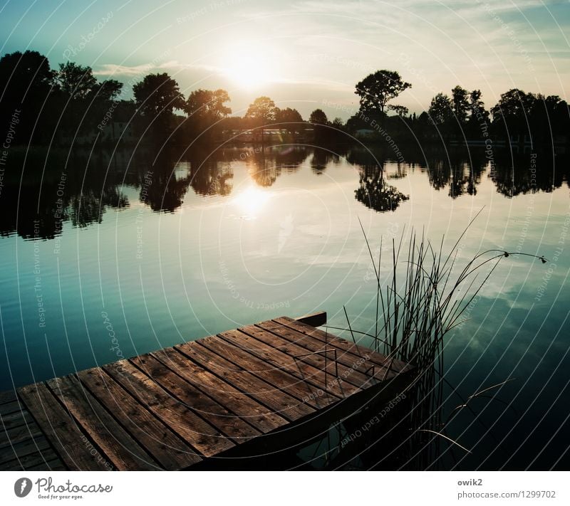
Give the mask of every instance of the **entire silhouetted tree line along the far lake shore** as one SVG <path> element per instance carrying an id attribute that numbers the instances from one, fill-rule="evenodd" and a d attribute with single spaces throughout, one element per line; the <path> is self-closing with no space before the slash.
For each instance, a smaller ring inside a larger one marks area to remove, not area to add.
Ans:
<path id="1" fill-rule="evenodd" d="M 366 76 L 356 84 L 359 109 L 346 122 L 340 117 L 329 120 L 321 108 L 305 121 L 298 110 L 281 109 L 266 96 L 257 97 L 245 115 L 238 117 L 230 116 L 226 90 L 193 90 L 185 97 L 170 75 L 151 73 L 133 84 L 132 100 L 123 100 L 122 83 L 98 80 L 88 66 L 68 61 L 54 70 L 48 58 L 37 51 L 16 51 L 0 58 L 0 126 L 2 132 L 14 130 L 19 144 L 104 137 L 115 122 L 134 125 L 138 137 L 146 133 L 182 142 L 212 141 L 231 130 L 259 129 L 263 136 L 267 128 L 294 134 L 310 127 L 316 140 L 323 142 L 348 140 L 359 132 L 372 131 L 376 137 L 390 135 L 420 142 L 526 136 L 536 143 L 549 143 L 570 132 L 569 105 L 556 95 L 512 89 L 487 110 L 480 90 L 457 85 L 450 95 L 437 93 L 427 111 L 416 115 L 393 104 L 411 87 L 395 70 Z"/>

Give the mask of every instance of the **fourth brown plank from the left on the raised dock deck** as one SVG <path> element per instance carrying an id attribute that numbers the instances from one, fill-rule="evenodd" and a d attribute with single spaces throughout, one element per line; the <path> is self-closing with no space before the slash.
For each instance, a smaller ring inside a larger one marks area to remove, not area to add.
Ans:
<path id="1" fill-rule="evenodd" d="M 152 411 L 200 454 L 210 457 L 232 448 L 235 443 L 197 414 L 188 409 L 126 360 L 104 366 L 115 381 L 133 394 L 146 409 Z"/>

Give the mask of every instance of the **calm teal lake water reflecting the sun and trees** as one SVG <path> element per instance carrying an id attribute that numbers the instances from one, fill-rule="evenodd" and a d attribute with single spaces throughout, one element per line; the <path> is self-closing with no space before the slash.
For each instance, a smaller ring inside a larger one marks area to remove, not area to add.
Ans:
<path id="1" fill-rule="evenodd" d="M 326 310 L 346 326 L 346 305 L 368 330 L 375 290 L 358 218 L 373 249 L 412 228 L 449 249 L 483 209 L 460 260 L 504 248 L 549 263 L 505 258 L 449 334 L 447 379 L 462 396 L 515 380 L 474 399 L 480 417 L 462 414 L 448 434 L 474 449 L 456 454 L 462 468 L 570 467 L 563 157 L 495 152 L 492 167 L 483 152 L 427 152 L 398 164 L 283 146 L 10 156 L 1 390 L 279 315 Z"/>

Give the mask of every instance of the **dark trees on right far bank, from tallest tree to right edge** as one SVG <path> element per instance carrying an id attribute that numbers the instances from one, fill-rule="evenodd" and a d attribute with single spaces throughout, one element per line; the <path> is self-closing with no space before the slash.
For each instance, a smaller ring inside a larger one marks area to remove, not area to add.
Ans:
<path id="1" fill-rule="evenodd" d="M 406 107 L 389 103 L 410 87 L 394 71 L 368 75 L 356 85 L 360 109 L 348 120 L 348 132 L 356 135 L 365 130 L 375 132 L 378 140 L 389 135 L 414 142 L 497 139 L 538 146 L 570 142 L 569 105 L 559 96 L 512 89 L 487 109 L 481 90 L 456 85 L 449 94 L 437 93 L 427 111 L 410 115 Z"/>

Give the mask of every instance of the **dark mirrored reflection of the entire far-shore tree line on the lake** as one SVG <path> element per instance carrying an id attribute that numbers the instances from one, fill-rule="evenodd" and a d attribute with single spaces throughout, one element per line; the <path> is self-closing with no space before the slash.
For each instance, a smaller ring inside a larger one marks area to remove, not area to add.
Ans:
<path id="1" fill-rule="evenodd" d="M 426 182 L 434 189 L 452 199 L 477 194 L 485 171 L 499 194 L 508 197 L 568 184 L 567 159 L 561 155 L 514 156 L 496 149 L 489 158 L 483 149 L 409 149 L 405 156 L 405 163 L 397 163 L 390 153 L 346 146 L 336 152 L 288 145 L 98 152 L 14 149 L 0 199 L 0 233 L 51 239 L 67 221 L 75 227 L 100 223 L 107 209 L 130 206 L 128 188 L 137 189 L 139 201 L 152 211 L 172 213 L 182 206 L 189 189 L 197 196 L 231 195 L 234 171 L 240 167 L 247 169 L 254 186 L 269 188 L 281 174 L 307 167 L 321 175 L 344 159 L 358 173 L 355 198 L 380 213 L 394 211 L 410 199 L 397 181 L 417 169 L 427 174 Z"/>

